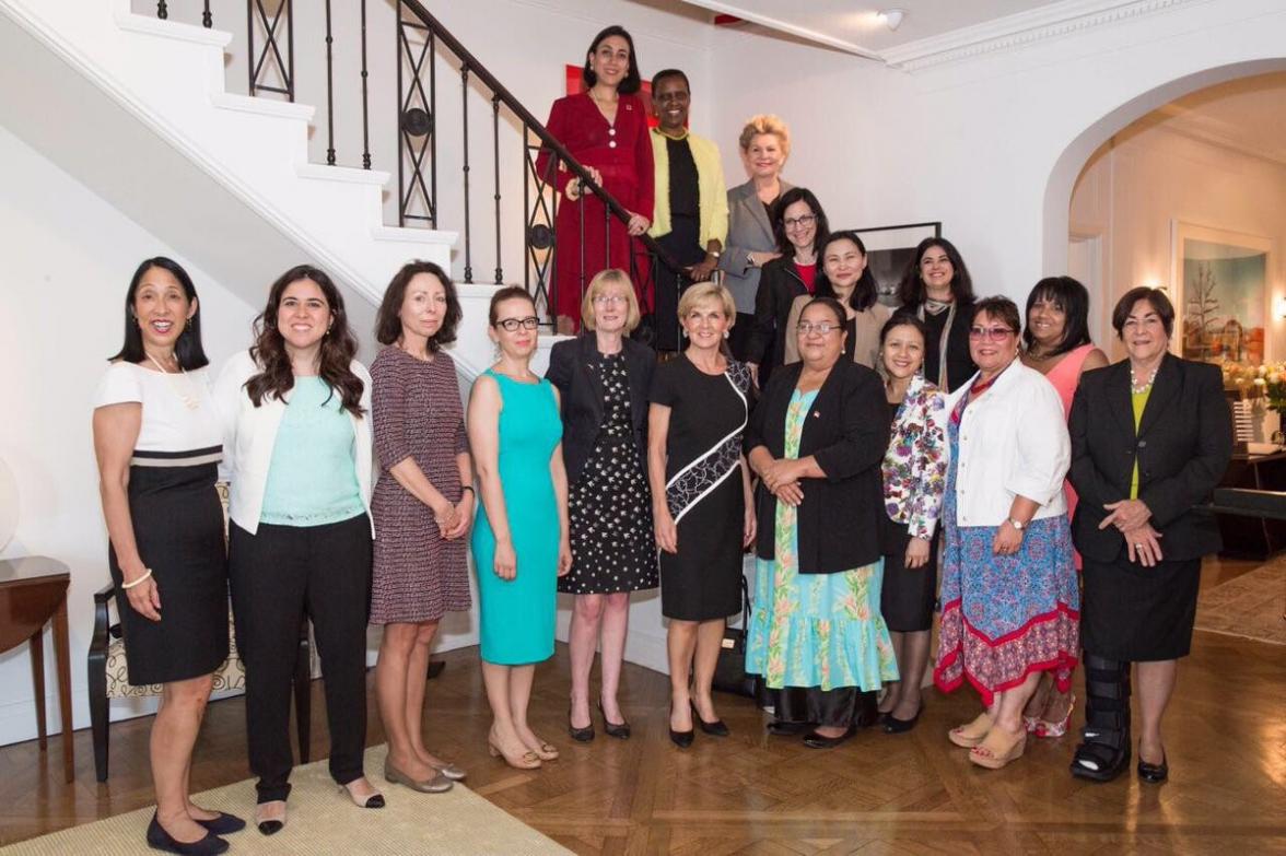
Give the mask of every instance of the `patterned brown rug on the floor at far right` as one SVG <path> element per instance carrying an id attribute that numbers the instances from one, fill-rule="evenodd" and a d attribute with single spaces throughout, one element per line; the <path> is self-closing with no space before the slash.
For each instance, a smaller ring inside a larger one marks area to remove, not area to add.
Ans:
<path id="1" fill-rule="evenodd" d="M 1197 630 L 1286 645 L 1286 555 L 1197 596 Z"/>

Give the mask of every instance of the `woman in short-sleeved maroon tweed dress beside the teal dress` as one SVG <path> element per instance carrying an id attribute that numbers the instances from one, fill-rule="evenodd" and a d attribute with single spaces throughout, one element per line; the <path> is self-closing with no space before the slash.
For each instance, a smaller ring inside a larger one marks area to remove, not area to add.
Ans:
<path id="1" fill-rule="evenodd" d="M 455 285 L 433 262 L 403 266 L 388 283 L 370 364 L 381 476 L 370 623 L 383 625 L 376 695 L 388 735 L 385 778 L 423 793 L 451 789 L 464 771 L 424 748 L 428 652 L 446 612 L 471 604 L 464 536 L 473 521 L 473 460 L 455 362 L 442 350 L 460 321 Z"/>

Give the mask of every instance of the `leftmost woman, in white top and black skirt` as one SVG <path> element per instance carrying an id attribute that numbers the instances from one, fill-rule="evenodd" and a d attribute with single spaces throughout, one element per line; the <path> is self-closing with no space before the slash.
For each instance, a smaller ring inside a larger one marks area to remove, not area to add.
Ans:
<path id="1" fill-rule="evenodd" d="M 228 659 L 228 569 L 215 491 L 222 437 L 201 346 L 197 289 L 176 262 L 139 265 L 125 294 L 125 344 L 94 400 L 94 454 L 108 566 L 131 684 L 161 684 L 147 841 L 221 853 L 246 821 L 192 805 L 192 747 L 212 672 Z"/>

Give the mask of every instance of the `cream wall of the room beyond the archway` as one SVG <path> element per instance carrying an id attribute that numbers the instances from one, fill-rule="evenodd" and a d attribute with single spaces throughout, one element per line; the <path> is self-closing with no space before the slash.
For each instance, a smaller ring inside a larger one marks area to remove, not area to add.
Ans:
<path id="1" fill-rule="evenodd" d="M 1272 93 L 1277 95 L 1278 93 Z M 1265 109 L 1286 111 L 1282 102 Z M 1094 338 L 1114 359 L 1124 350 L 1111 330 L 1116 299 L 1136 285 L 1169 285 L 1172 222 L 1226 229 L 1274 242 L 1269 296 L 1286 297 L 1286 163 L 1193 139 L 1152 117 L 1115 135 L 1091 158 L 1071 197 L 1071 229 L 1102 235 L 1103 296 L 1092 307 Z M 1286 321 L 1268 315 L 1265 359 L 1286 353 Z"/>

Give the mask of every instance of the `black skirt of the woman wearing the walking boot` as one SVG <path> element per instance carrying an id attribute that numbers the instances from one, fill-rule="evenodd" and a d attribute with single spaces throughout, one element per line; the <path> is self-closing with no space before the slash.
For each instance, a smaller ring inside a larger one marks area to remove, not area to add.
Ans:
<path id="1" fill-rule="evenodd" d="M 1121 553 L 1115 562 L 1082 557 L 1082 648 L 1128 662 L 1188 655 L 1201 582 L 1200 558 L 1145 568 Z"/>

